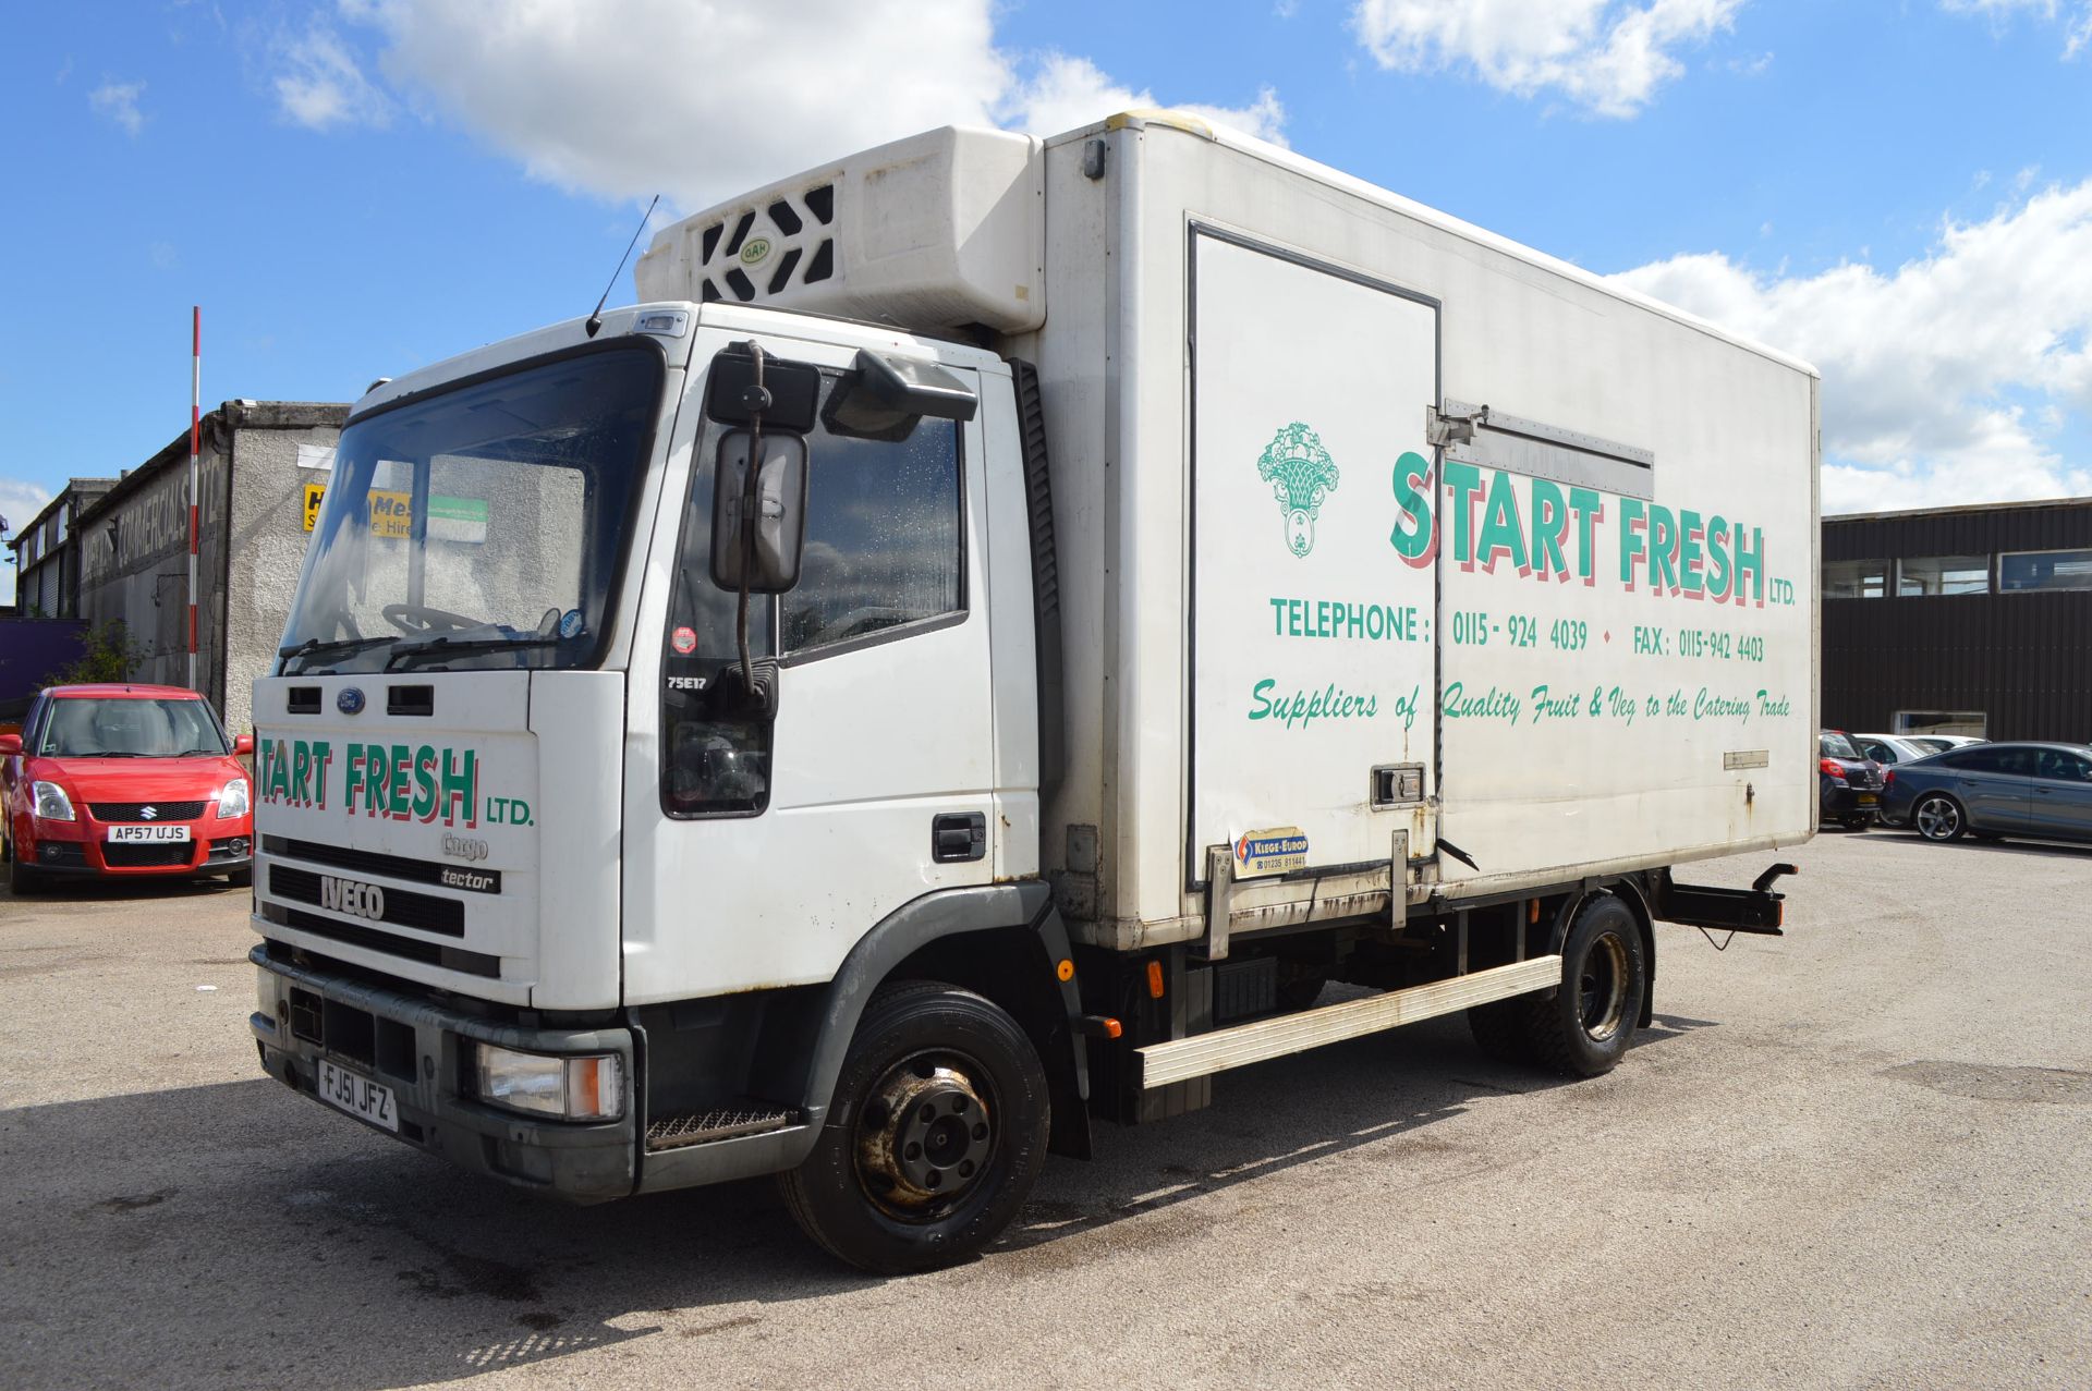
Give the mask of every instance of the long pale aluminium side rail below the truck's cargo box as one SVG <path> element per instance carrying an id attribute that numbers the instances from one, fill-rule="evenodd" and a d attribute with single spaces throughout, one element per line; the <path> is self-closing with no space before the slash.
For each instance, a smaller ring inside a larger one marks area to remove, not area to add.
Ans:
<path id="1" fill-rule="evenodd" d="M 1188 1077 L 1209 1077 L 1230 1067 L 1282 1058 L 1322 1044 L 1395 1029 L 1420 1019 L 1452 1014 L 1492 1000 L 1508 1000 L 1548 985 L 1561 985 L 1563 958 L 1536 956 L 1508 966 L 1492 966 L 1471 975 L 1391 989 L 1366 1000 L 1343 1000 L 1297 1014 L 1259 1019 L 1232 1029 L 1213 1029 L 1169 1044 L 1149 1044 L 1138 1050 L 1140 1090 L 1169 1086 Z"/>

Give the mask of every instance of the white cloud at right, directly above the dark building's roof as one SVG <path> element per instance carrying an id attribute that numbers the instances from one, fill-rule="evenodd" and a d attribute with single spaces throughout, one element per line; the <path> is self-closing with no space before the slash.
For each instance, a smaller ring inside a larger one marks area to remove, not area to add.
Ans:
<path id="1" fill-rule="evenodd" d="M 1824 510 L 2092 494 L 2092 180 L 1948 220 L 1923 259 L 1761 276 L 1720 253 L 1613 276 L 1812 360 Z"/>

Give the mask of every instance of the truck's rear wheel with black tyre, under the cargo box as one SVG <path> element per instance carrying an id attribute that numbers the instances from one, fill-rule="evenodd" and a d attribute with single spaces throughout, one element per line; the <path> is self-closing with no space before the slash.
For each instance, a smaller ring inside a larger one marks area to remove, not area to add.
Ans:
<path id="1" fill-rule="evenodd" d="M 1642 925 L 1619 897 L 1602 893 L 1577 910 L 1563 943 L 1563 985 L 1554 998 L 1521 996 L 1533 1058 L 1565 1077 L 1598 1077 L 1628 1052 L 1648 994 Z"/>

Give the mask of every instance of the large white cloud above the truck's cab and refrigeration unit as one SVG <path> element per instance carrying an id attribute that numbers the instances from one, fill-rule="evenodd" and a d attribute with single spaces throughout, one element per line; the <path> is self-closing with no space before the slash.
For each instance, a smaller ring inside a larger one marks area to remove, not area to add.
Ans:
<path id="1" fill-rule="evenodd" d="M 1065 130 L 1157 105 L 1094 63 L 996 48 L 994 0 L 339 0 L 393 105 L 456 121 L 550 184 L 703 207 L 950 123 Z M 331 71 L 324 69 L 322 71 Z M 1192 96 L 1165 92 L 1163 100 Z M 1192 107 L 1266 138 L 1270 90 Z"/>

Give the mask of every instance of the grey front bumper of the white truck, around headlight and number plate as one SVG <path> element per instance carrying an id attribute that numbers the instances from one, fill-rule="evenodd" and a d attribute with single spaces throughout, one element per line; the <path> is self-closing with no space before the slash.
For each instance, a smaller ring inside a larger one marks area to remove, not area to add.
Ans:
<path id="1" fill-rule="evenodd" d="M 573 1203 L 632 1192 L 638 1102 L 632 1031 L 525 1029 L 429 1000 L 249 952 L 257 1010 L 249 1019 L 262 1069 L 316 1104 L 320 1058 L 391 1090 L 397 1140 L 519 1188 Z M 617 1121 L 546 1121 L 490 1107 L 467 1090 L 471 1042 L 525 1052 L 615 1052 L 626 1075 Z M 333 1107 L 328 1107 L 333 1111 Z M 347 1117 L 343 1117 L 347 1119 Z"/>

